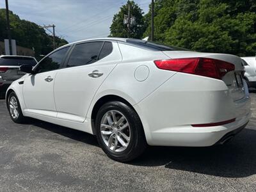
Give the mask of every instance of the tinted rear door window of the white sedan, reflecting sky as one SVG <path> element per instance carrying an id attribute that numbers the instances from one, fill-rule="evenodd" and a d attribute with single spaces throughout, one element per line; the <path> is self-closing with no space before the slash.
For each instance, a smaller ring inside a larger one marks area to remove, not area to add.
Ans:
<path id="1" fill-rule="evenodd" d="M 88 42 L 76 45 L 70 55 L 67 67 L 76 67 L 94 63 L 98 60 L 102 45 L 103 42 Z"/>

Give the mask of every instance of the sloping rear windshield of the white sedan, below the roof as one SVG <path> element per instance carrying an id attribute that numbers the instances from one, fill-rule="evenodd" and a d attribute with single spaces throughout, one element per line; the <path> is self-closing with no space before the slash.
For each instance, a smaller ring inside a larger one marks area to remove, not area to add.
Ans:
<path id="1" fill-rule="evenodd" d="M 158 44 L 156 42 L 147 42 L 145 40 L 138 40 L 129 38 L 126 40 L 128 44 L 135 45 L 137 47 L 141 47 L 143 49 L 148 49 L 150 51 L 190 51 L 189 49 Z"/>

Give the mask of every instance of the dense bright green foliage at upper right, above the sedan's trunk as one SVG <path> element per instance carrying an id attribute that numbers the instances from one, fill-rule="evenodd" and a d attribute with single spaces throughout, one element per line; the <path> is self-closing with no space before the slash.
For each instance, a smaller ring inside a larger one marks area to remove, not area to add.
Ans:
<path id="1" fill-rule="evenodd" d="M 157 42 L 239 56 L 256 53 L 255 0 L 156 0 L 155 4 Z M 144 36 L 150 35 L 150 15 L 145 15 Z"/>

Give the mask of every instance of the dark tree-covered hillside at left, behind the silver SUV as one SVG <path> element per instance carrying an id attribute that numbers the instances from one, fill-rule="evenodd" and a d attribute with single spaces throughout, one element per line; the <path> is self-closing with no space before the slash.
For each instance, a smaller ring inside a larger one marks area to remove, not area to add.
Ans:
<path id="1" fill-rule="evenodd" d="M 10 28 L 12 38 L 16 40 L 16 44 L 22 47 L 35 49 L 35 56 L 40 54 L 48 54 L 52 51 L 52 36 L 47 35 L 43 28 L 40 28 L 34 22 L 28 20 L 21 20 L 18 15 L 9 12 Z M 0 9 L 0 41 L 8 38 L 6 30 L 6 10 Z M 56 47 L 65 45 L 68 42 L 56 36 Z"/>

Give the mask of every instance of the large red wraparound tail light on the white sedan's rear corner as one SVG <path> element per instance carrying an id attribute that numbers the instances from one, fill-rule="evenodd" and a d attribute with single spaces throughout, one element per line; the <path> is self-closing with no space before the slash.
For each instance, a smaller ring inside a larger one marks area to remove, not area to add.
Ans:
<path id="1" fill-rule="evenodd" d="M 235 70 L 235 65 L 211 58 L 182 58 L 173 60 L 156 60 L 156 67 L 198 76 L 221 79 L 227 72 Z"/>

